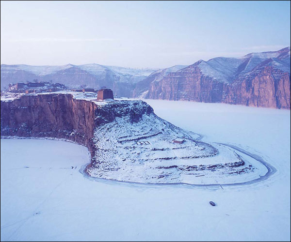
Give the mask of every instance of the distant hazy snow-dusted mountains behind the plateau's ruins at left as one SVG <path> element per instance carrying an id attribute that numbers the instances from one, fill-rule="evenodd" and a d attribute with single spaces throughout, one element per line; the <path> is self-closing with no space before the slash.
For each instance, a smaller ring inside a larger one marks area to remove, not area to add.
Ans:
<path id="1" fill-rule="evenodd" d="M 9 83 L 39 81 L 59 82 L 69 88 L 86 86 L 99 89 L 111 88 L 114 94 L 131 96 L 135 84 L 156 69 L 134 69 L 119 66 L 105 66 L 99 64 L 63 66 L 31 66 L 31 65 L 1 65 L 1 90 Z"/>

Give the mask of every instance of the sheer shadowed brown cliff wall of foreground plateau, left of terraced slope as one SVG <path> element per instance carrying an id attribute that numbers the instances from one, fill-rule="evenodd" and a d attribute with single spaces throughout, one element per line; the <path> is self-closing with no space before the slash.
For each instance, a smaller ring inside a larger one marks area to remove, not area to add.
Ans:
<path id="1" fill-rule="evenodd" d="M 1 101 L 1 136 L 65 138 L 94 149 L 95 105 L 70 94 L 23 95 Z"/>

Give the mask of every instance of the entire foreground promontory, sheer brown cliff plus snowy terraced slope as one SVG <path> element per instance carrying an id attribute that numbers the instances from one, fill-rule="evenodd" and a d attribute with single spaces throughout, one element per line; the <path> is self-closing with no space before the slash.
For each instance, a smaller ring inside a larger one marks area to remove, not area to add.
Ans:
<path id="1" fill-rule="evenodd" d="M 227 147 L 196 140 L 198 135 L 159 118 L 143 101 L 96 98 L 90 92 L 4 93 L 1 138 L 77 142 L 91 153 L 87 175 L 118 181 L 201 184 L 203 176 L 204 184 L 224 184 L 232 177 L 250 181 L 266 171 Z"/>

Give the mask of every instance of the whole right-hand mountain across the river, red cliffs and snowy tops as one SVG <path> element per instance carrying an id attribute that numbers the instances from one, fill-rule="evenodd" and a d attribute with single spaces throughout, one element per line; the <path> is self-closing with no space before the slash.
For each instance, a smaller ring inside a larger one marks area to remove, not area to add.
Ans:
<path id="1" fill-rule="evenodd" d="M 290 48 L 197 61 L 153 80 L 146 98 L 290 109 Z"/>

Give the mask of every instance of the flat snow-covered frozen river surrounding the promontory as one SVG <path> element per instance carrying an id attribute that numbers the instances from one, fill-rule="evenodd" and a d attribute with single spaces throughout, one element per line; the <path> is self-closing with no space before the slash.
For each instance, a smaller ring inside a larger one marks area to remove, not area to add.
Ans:
<path id="1" fill-rule="evenodd" d="M 85 147 L 1 139 L 1 241 L 290 241 L 290 110 L 146 102 L 202 141 L 258 155 L 275 174 L 222 187 L 88 179 L 79 172 Z"/>

